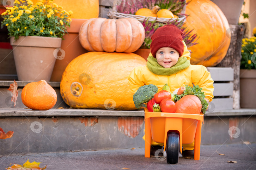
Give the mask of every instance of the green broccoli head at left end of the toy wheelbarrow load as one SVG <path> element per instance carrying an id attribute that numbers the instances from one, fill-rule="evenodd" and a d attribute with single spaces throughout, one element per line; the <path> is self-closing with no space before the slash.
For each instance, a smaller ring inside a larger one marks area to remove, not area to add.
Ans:
<path id="1" fill-rule="evenodd" d="M 154 97 L 157 91 L 158 88 L 154 84 L 149 84 L 138 88 L 137 92 L 133 95 L 135 107 L 137 109 L 139 109 L 141 106 L 146 107 L 144 103 L 148 103 L 149 100 Z"/>

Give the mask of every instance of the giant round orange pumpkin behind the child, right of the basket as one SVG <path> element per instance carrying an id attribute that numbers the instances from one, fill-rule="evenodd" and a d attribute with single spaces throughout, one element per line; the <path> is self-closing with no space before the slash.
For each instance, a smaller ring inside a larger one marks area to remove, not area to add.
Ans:
<path id="1" fill-rule="evenodd" d="M 188 48 L 192 51 L 191 64 L 212 67 L 227 54 L 230 36 L 229 23 L 221 9 L 210 0 L 193 0 L 186 6 L 184 26 L 197 33 L 198 44 Z"/>

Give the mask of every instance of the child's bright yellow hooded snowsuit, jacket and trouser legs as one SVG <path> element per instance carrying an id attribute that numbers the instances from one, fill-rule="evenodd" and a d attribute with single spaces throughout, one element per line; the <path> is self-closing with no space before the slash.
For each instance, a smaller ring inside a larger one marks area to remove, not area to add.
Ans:
<path id="1" fill-rule="evenodd" d="M 186 44 L 184 43 L 183 57 L 190 60 L 189 51 L 187 50 Z M 149 55 L 152 56 L 150 53 Z M 190 65 L 188 68 L 170 75 L 160 76 L 149 71 L 147 66 L 139 66 L 131 71 L 127 77 L 131 92 L 135 93 L 137 89 L 144 85 L 154 84 L 158 87 L 158 91 L 162 90 L 162 87 L 167 83 L 170 86 L 171 92 L 185 85 L 193 86 L 198 85 L 202 88 L 205 94 L 205 98 L 209 101 L 213 98 L 213 80 L 210 76 L 210 72 L 203 65 Z M 154 142 L 151 139 L 151 145 L 161 145 Z M 193 150 L 194 143 L 183 145 L 183 150 Z"/>

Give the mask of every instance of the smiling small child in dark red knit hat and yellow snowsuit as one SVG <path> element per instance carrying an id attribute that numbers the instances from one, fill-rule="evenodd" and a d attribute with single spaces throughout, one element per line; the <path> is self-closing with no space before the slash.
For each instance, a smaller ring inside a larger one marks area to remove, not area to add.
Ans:
<path id="1" fill-rule="evenodd" d="M 185 85 L 198 85 L 209 103 L 213 98 L 213 80 L 203 65 L 190 65 L 189 51 L 182 40 L 182 31 L 175 25 L 159 27 L 152 35 L 146 66 L 136 67 L 127 77 L 130 90 L 135 93 L 144 85 L 154 84 L 158 91 L 168 83 L 171 92 Z M 163 144 L 151 139 L 150 156 L 162 149 Z M 183 144 L 182 157 L 194 159 L 194 142 Z"/>

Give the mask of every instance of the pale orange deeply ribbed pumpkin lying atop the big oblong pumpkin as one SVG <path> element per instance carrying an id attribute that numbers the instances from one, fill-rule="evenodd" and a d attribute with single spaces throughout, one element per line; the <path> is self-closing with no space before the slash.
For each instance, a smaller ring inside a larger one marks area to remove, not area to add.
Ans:
<path id="1" fill-rule="evenodd" d="M 136 51 L 145 39 L 143 25 L 134 18 L 92 18 L 83 23 L 79 41 L 88 51 Z"/>

